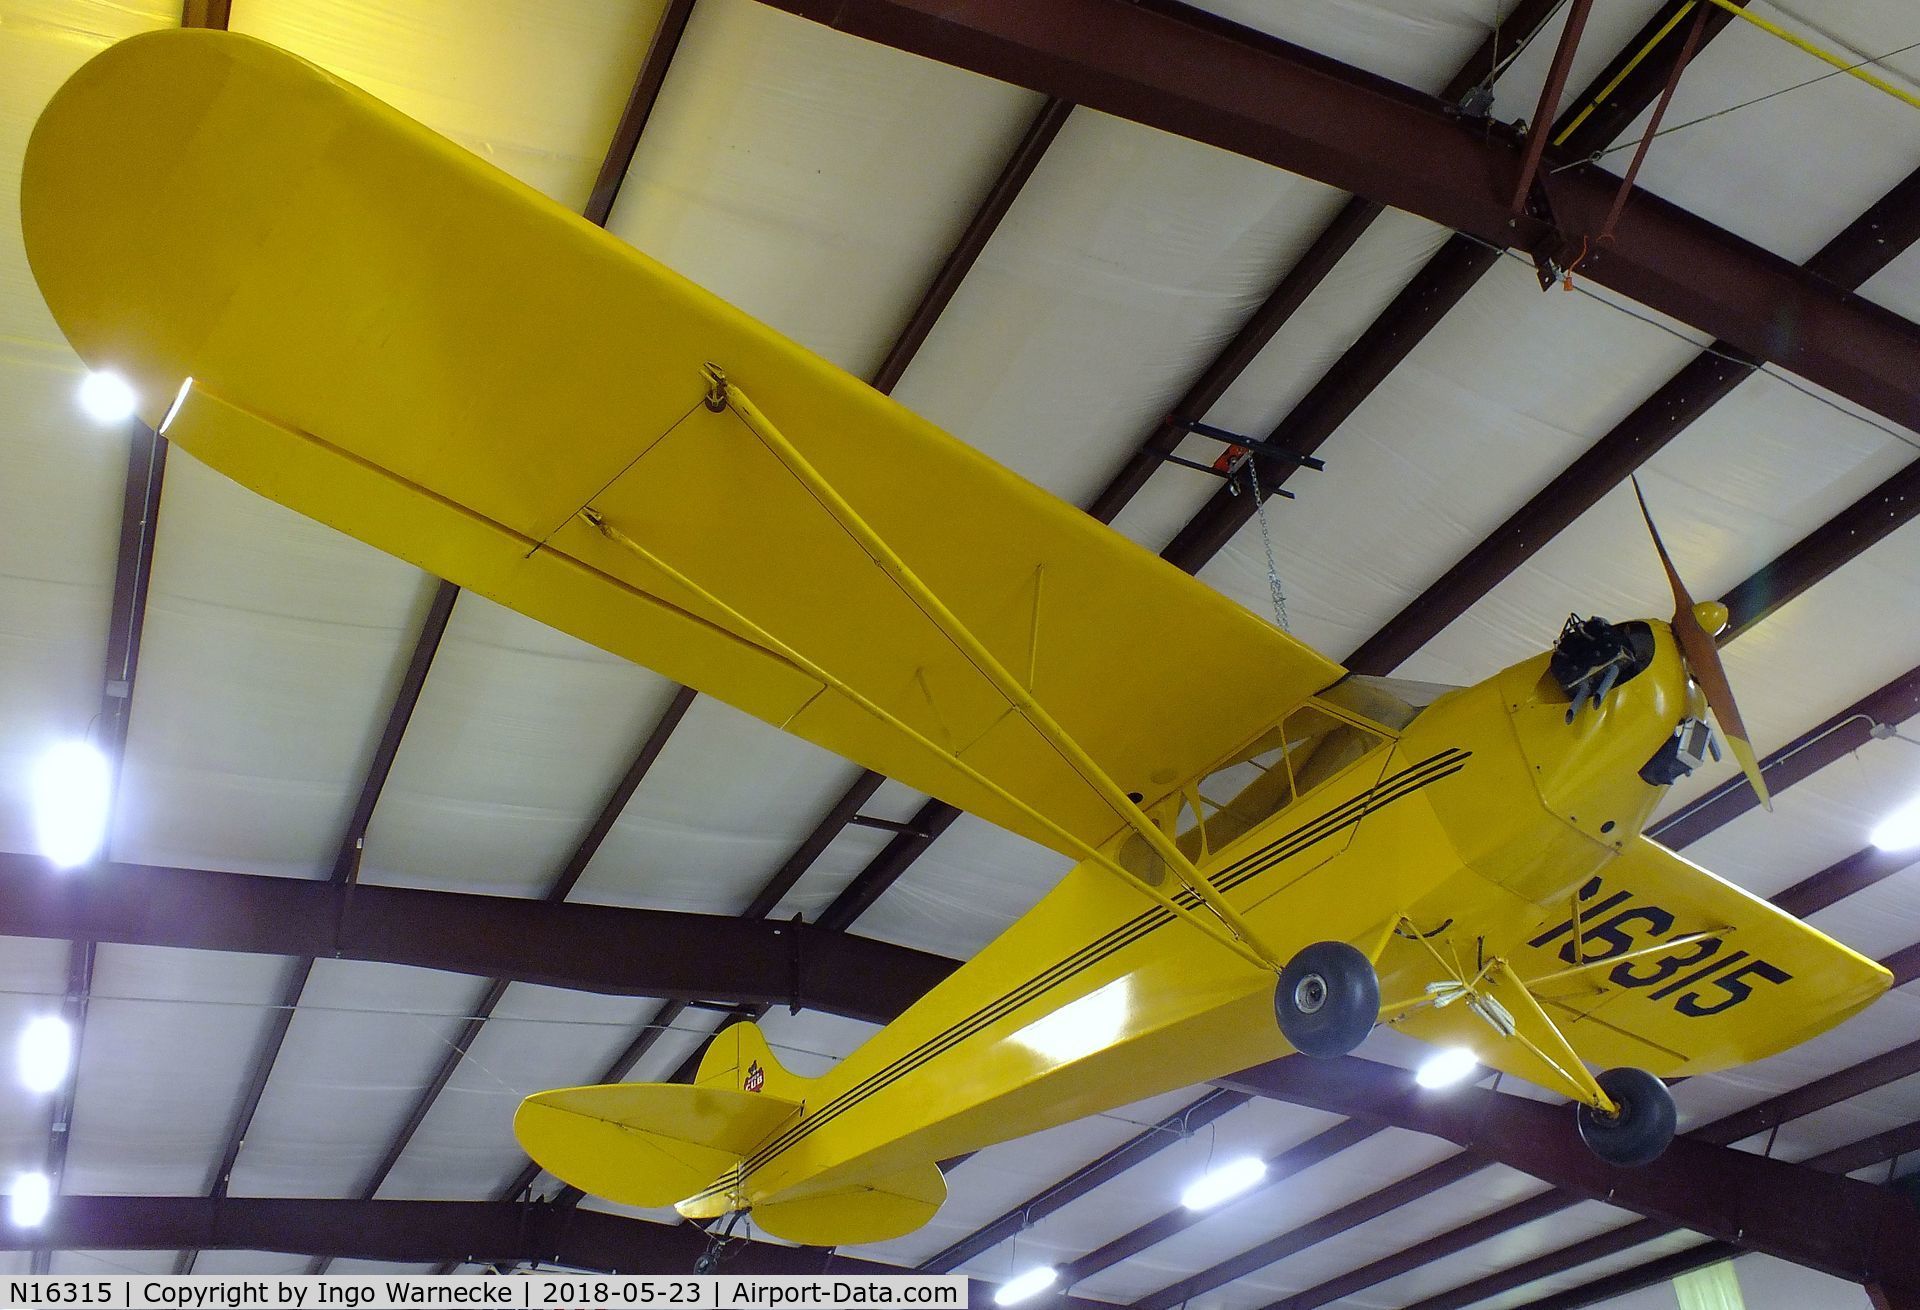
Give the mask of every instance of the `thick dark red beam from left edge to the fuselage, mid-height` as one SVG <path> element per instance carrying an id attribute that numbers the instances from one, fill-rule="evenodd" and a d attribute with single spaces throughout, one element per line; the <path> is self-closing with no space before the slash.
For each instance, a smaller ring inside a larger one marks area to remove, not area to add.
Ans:
<path id="1" fill-rule="evenodd" d="M 799 1001 L 885 1022 L 956 966 L 818 924 L 0 853 L 0 935 L 374 960 L 609 995 Z"/>

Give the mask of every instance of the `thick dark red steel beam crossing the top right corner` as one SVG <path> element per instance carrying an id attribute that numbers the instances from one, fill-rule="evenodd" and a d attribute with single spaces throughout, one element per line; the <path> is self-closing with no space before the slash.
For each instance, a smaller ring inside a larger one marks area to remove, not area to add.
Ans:
<path id="1" fill-rule="evenodd" d="M 1423 215 L 1500 248 L 1599 232 L 1617 181 L 1549 177 L 1557 229 L 1509 227 L 1521 159 L 1432 96 L 1286 42 L 1129 0 L 776 0 L 870 40 L 1192 136 Z M 1569 148 L 1572 142 L 1569 142 Z M 1582 275 L 1895 423 L 1920 426 L 1920 328 L 1636 190 Z"/>

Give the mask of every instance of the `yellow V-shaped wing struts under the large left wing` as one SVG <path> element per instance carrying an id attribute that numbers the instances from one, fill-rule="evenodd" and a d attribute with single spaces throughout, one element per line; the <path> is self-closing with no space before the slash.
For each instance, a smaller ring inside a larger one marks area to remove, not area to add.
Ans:
<path id="1" fill-rule="evenodd" d="M 724 609 L 730 619 L 751 630 L 756 640 L 768 645 L 768 649 L 780 653 L 783 659 L 793 661 L 808 676 L 818 678 L 822 684 L 833 688 L 841 695 L 847 695 L 851 701 L 860 705 L 860 709 L 874 715 L 876 718 L 881 718 L 887 726 L 895 728 L 897 732 L 908 734 L 920 745 L 935 749 L 947 759 L 950 759 L 962 772 L 970 776 L 970 780 L 991 789 L 1008 805 L 1018 807 L 1021 813 L 1031 816 L 1037 824 L 1052 832 L 1075 853 L 1079 853 L 1081 859 L 1098 864 L 1106 872 L 1127 882 L 1127 885 L 1144 891 L 1164 909 L 1173 910 L 1175 914 L 1202 928 L 1208 935 L 1212 935 L 1215 941 L 1219 941 L 1221 945 L 1229 947 L 1231 951 L 1246 958 L 1250 964 L 1279 972 L 1284 966 L 1284 962 L 1279 960 L 1273 955 L 1273 951 L 1269 951 L 1260 941 L 1260 935 L 1252 930 L 1246 918 L 1231 905 L 1227 905 L 1225 897 L 1221 897 L 1213 889 L 1213 885 L 1200 874 L 1200 870 L 1194 868 L 1194 864 L 1173 843 L 1173 839 L 1165 832 L 1162 832 L 1152 822 L 1152 818 L 1148 818 L 1146 813 L 1139 805 L 1135 805 L 1135 801 L 1119 788 L 1119 784 L 1116 784 L 1106 774 L 1106 770 L 1100 768 L 1100 764 L 1087 753 L 1087 749 L 1079 741 L 1075 741 L 1073 736 L 1050 713 L 1046 713 L 1046 707 L 1041 705 L 1039 699 L 1035 699 L 1035 695 L 1025 686 L 1021 686 L 1020 680 L 993 655 L 993 651 L 989 651 L 987 645 L 966 626 L 966 622 L 941 601 L 941 597 L 933 592 L 933 588 L 929 588 L 912 570 L 912 567 L 904 559 L 900 559 L 891 546 L 887 546 L 885 538 L 881 538 L 881 534 L 876 532 L 874 526 L 860 517 L 860 511 L 854 509 L 851 503 L 847 503 L 847 499 L 837 490 L 833 490 L 833 484 L 828 482 L 828 478 L 822 476 L 818 469 L 814 469 L 814 465 L 806 459 L 806 455 L 803 455 L 793 446 L 793 442 L 789 442 L 785 434 L 780 432 L 780 428 L 760 411 L 758 405 L 753 403 L 753 400 L 737 384 L 728 380 L 724 371 L 720 371 L 716 365 L 707 365 L 705 373 L 707 373 L 707 398 L 705 398 L 707 407 L 716 413 L 722 409 L 733 411 L 733 415 L 741 421 L 741 425 L 755 438 L 758 438 L 762 446 L 766 446 L 766 449 L 787 469 L 787 473 L 791 473 L 801 482 L 801 486 L 806 488 L 806 492 L 820 503 L 820 507 L 833 517 L 833 521 L 841 526 L 841 530 L 845 530 L 847 536 L 851 536 L 854 544 L 860 546 L 860 549 L 868 555 L 868 559 L 872 559 L 895 582 L 895 586 L 899 586 L 900 592 L 906 594 L 906 597 L 914 603 L 914 607 L 920 609 L 920 613 L 925 615 L 927 620 L 933 622 L 933 626 L 939 628 L 941 634 L 948 642 L 952 642 L 956 649 L 960 649 L 960 653 L 968 659 L 968 663 L 972 663 L 973 668 L 983 678 L 987 678 L 987 682 L 991 682 L 993 688 L 1006 699 L 1006 703 L 1012 705 L 1014 711 L 1021 718 L 1025 718 L 1029 726 L 1033 726 L 1033 730 L 1041 736 L 1041 740 L 1044 740 L 1054 751 L 1058 751 L 1062 761 L 1066 761 L 1066 764 L 1075 774 L 1079 774 L 1079 778 L 1089 788 L 1092 788 L 1092 791 L 1119 818 L 1123 818 L 1135 832 L 1140 834 L 1140 837 L 1146 839 L 1146 843 L 1154 849 L 1154 853 L 1167 862 L 1167 868 L 1175 872 L 1175 876 L 1181 880 L 1187 891 L 1200 905 L 1212 910 L 1221 926 L 1225 926 L 1225 932 L 1221 932 L 1219 926 L 1208 922 L 1206 918 L 1194 914 L 1192 909 L 1181 905 L 1175 897 L 1167 895 L 1160 887 L 1140 878 L 1135 878 L 1110 855 L 1104 855 L 1102 851 L 1094 849 L 1081 837 L 1069 834 L 1058 822 L 1039 813 L 1020 797 L 1012 795 L 1006 788 L 981 774 L 977 768 L 968 764 L 958 755 L 937 747 L 922 732 L 902 722 L 899 716 L 891 715 L 883 707 L 876 705 L 870 697 L 860 695 L 854 688 L 847 686 L 845 682 L 829 674 L 826 668 L 820 668 L 801 653 L 787 647 L 783 642 L 778 642 L 758 624 L 735 613 L 730 605 L 707 594 L 705 588 L 699 588 L 689 578 L 680 574 L 676 569 L 666 565 L 666 561 L 653 555 L 645 546 L 641 546 L 639 542 L 632 540 L 630 536 L 609 524 L 599 511 L 586 507 L 582 509 L 582 517 L 586 517 L 586 521 L 593 524 L 599 532 L 603 532 L 609 540 L 624 546 L 630 551 L 639 553 L 641 557 L 647 559 L 649 565 L 664 570 L 682 586 L 699 592 L 707 603 Z"/>

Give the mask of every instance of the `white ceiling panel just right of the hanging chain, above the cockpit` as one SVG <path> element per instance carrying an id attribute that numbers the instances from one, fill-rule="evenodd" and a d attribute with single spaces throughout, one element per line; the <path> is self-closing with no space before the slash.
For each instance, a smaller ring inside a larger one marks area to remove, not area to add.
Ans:
<path id="1" fill-rule="evenodd" d="M 1290 482 L 1300 499 L 1269 507 L 1294 632 L 1336 657 L 1359 645 L 1692 355 L 1500 259 L 1321 446 L 1325 473 Z M 1200 576 L 1267 613 L 1265 569 L 1250 522 Z"/>

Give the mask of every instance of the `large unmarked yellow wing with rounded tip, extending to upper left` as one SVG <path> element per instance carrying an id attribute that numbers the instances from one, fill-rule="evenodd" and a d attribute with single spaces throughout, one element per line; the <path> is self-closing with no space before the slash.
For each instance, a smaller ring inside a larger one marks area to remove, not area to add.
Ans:
<path id="1" fill-rule="evenodd" d="M 1121 820 L 733 413 L 701 403 L 705 363 L 1146 805 L 1340 676 L 267 44 L 171 31 L 92 60 L 35 129 L 21 209 L 92 367 L 127 375 L 148 421 L 194 378 L 167 436 L 196 457 L 1056 849 L 1023 807 L 1094 845 Z"/>

